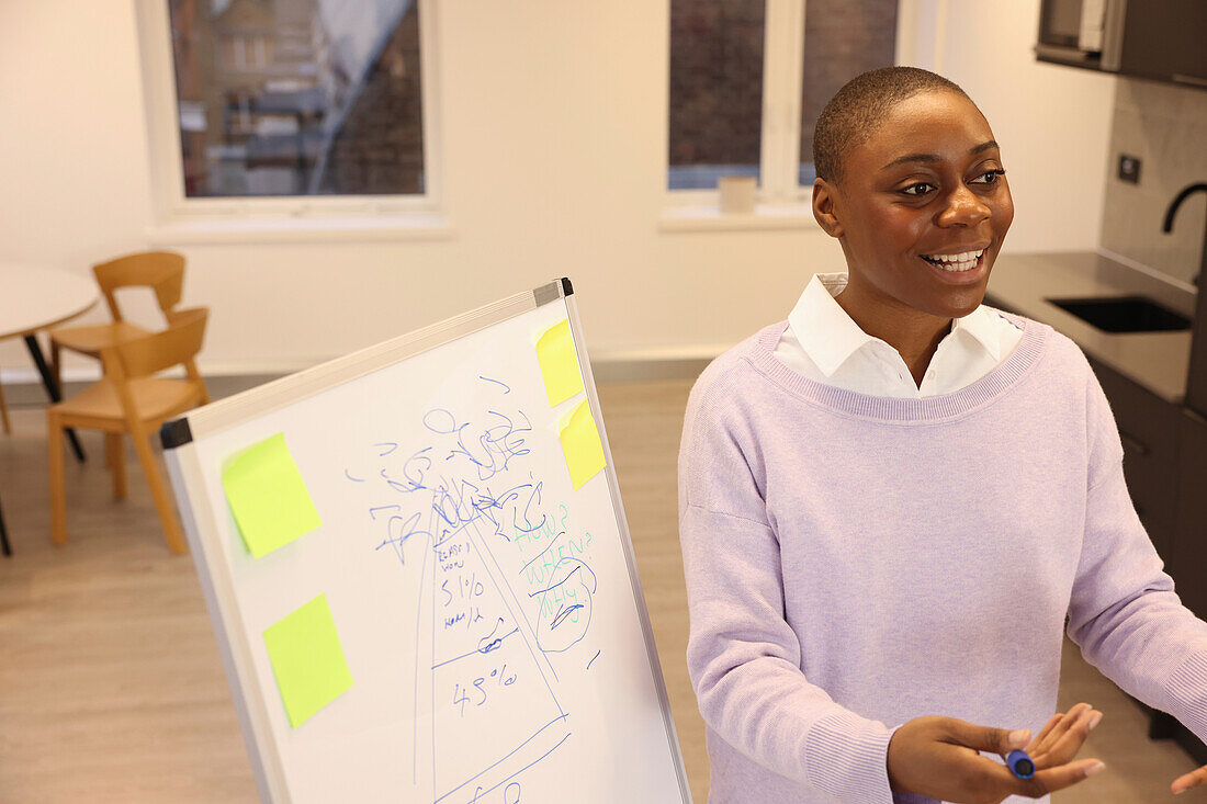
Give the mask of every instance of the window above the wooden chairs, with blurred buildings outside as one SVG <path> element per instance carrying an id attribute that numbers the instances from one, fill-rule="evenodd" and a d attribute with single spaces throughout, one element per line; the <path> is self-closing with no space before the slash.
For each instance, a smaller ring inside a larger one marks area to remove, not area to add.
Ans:
<path id="1" fill-rule="evenodd" d="M 431 206 L 428 7 L 145 0 L 161 200 L 186 216 Z"/>

